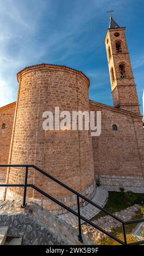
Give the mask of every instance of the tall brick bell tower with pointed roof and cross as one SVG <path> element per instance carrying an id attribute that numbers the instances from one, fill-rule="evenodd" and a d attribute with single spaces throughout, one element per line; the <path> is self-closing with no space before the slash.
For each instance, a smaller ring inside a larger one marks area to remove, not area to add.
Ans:
<path id="1" fill-rule="evenodd" d="M 139 100 L 127 47 L 125 27 L 112 19 L 105 36 L 114 107 L 140 114 Z"/>

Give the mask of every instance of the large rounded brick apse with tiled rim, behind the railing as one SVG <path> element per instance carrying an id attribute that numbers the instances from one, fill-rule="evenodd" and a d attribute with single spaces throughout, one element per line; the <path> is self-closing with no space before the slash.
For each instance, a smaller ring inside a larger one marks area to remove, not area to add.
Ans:
<path id="1" fill-rule="evenodd" d="M 18 81 L 9 163 L 33 163 L 74 190 L 86 190 L 95 182 L 89 131 L 43 131 L 42 114 L 47 110 L 54 113 L 57 106 L 60 112 L 89 111 L 89 80 L 82 72 L 64 66 L 37 65 L 21 71 Z M 24 171 L 11 168 L 7 181 L 23 183 Z M 56 198 L 71 194 L 32 169 L 29 170 L 29 182 Z M 23 193 L 22 189 L 15 190 L 17 194 Z M 41 195 L 30 190 L 29 197 L 41 198 Z"/>

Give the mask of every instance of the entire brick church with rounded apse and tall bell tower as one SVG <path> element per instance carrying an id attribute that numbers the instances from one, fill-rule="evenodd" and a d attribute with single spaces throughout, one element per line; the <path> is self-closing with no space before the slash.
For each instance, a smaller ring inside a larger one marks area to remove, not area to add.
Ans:
<path id="1" fill-rule="evenodd" d="M 39 64 L 18 72 L 17 101 L 0 108 L 0 163 L 34 164 L 64 184 L 92 199 L 100 185 L 144 186 L 144 130 L 128 52 L 125 27 L 110 17 L 105 35 L 114 106 L 89 99 L 90 81 L 67 66 Z M 101 111 L 102 132 L 43 131 L 42 114 L 60 111 Z M 72 209 L 76 196 L 29 170 L 29 182 L 59 198 Z M 23 168 L 0 168 L 0 182 L 20 184 Z M 6 199 L 21 199 L 22 188 L 8 188 Z M 28 190 L 28 197 L 62 214 L 55 205 Z"/>

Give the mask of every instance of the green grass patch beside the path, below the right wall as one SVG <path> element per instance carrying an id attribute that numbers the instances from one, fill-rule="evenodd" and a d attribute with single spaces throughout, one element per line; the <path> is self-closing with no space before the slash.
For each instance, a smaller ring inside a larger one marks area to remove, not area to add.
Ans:
<path id="1" fill-rule="evenodd" d="M 125 210 L 129 206 L 134 204 L 143 205 L 144 203 L 144 194 L 142 193 L 133 193 L 131 191 L 128 192 L 114 192 L 109 191 L 109 198 L 107 203 L 104 206 L 104 209 L 107 209 L 111 213 L 116 211 Z M 97 220 L 98 218 L 105 216 L 105 212 L 100 211 L 98 215 L 93 217 L 91 221 Z"/>

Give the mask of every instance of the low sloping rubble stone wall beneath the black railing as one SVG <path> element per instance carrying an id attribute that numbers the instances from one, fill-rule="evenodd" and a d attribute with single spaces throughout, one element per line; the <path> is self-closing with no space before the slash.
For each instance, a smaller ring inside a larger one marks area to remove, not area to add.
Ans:
<path id="1" fill-rule="evenodd" d="M 33 202 L 22 209 L 21 202 L 0 200 L 0 225 L 9 238 L 22 237 L 22 245 L 96 245 L 83 233 L 80 242 L 78 229 Z"/>

